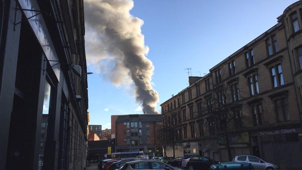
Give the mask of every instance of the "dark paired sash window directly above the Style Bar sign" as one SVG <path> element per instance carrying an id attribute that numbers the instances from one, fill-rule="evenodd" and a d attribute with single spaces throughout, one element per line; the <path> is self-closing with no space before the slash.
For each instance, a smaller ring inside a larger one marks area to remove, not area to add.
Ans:
<path id="1" fill-rule="evenodd" d="M 286 98 L 280 98 L 274 101 L 278 122 L 289 120 L 288 104 L 285 99 Z"/>

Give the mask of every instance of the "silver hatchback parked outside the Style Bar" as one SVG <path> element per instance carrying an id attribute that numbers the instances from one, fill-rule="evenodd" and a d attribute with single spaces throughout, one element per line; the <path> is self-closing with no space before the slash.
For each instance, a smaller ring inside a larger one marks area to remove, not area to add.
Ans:
<path id="1" fill-rule="evenodd" d="M 240 155 L 240 156 L 235 156 L 233 159 L 234 162 L 246 162 L 246 163 L 251 163 L 252 166 L 254 167 L 255 170 L 275 170 L 279 169 L 279 167 L 273 163 L 268 163 L 265 162 L 264 160 L 252 156 L 252 155 Z"/>

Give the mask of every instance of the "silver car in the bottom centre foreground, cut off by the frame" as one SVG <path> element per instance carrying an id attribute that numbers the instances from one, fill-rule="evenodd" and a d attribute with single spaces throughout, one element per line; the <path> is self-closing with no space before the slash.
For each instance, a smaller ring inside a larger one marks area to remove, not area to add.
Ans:
<path id="1" fill-rule="evenodd" d="M 172 167 L 166 163 L 157 160 L 135 160 L 125 163 L 120 170 L 134 170 L 134 169 L 166 169 L 166 170 L 181 170 L 179 168 Z"/>

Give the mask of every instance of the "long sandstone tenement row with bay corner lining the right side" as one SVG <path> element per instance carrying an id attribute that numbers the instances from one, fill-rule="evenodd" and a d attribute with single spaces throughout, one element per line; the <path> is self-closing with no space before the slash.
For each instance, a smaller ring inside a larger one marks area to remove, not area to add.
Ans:
<path id="1" fill-rule="evenodd" d="M 209 74 L 189 77 L 187 88 L 161 104 L 163 119 L 176 124 L 184 144 L 175 156 L 191 152 L 228 160 L 224 129 L 212 122 L 213 103 L 227 103 L 233 113 L 232 157 L 255 155 L 280 169 L 302 169 L 302 1 L 277 20 Z"/>

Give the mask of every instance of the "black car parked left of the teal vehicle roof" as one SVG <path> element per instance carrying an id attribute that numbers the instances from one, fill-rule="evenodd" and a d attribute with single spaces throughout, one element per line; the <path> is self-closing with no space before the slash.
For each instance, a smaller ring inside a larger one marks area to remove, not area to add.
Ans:
<path id="1" fill-rule="evenodd" d="M 181 167 L 189 168 L 189 170 L 194 169 L 209 169 L 211 165 L 219 163 L 209 157 L 205 156 L 194 156 L 188 159 L 184 159 Z"/>

